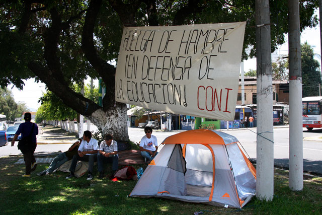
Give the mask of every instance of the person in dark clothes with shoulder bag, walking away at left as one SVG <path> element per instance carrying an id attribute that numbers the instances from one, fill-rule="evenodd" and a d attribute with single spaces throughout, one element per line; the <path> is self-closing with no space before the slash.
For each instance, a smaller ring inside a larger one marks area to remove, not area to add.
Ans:
<path id="1" fill-rule="evenodd" d="M 36 123 L 31 122 L 31 113 L 26 112 L 24 116 L 25 122 L 21 123 L 18 130 L 15 133 L 11 146 L 15 145 L 15 141 L 21 134 L 21 140 L 18 143 L 18 149 L 24 155 L 26 174 L 22 177 L 30 177 L 30 173 L 37 167 L 37 162 L 34 156 L 34 152 L 37 147 L 38 126 Z"/>

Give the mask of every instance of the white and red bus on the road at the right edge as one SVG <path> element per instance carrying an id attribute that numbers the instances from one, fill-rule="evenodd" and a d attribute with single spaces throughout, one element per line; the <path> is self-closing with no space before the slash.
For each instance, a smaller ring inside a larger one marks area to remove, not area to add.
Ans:
<path id="1" fill-rule="evenodd" d="M 303 127 L 307 130 L 322 127 L 321 104 L 322 96 L 302 98 Z"/>

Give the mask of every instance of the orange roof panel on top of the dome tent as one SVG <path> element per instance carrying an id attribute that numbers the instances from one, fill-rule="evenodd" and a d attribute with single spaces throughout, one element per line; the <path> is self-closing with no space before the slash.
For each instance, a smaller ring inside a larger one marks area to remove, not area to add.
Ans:
<path id="1" fill-rule="evenodd" d="M 167 137 L 163 144 L 218 144 L 224 145 L 220 135 L 208 129 L 188 130 Z"/>

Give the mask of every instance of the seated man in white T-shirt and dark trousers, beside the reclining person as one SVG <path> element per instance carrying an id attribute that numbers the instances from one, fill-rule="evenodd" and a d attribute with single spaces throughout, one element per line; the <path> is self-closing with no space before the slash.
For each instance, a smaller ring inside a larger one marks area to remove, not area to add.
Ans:
<path id="1" fill-rule="evenodd" d="M 89 130 L 84 131 L 83 141 L 78 148 L 78 154 L 72 157 L 72 162 L 69 168 L 70 174 L 66 179 L 75 177 L 74 172 L 76 168 L 77 161 L 88 161 L 89 169 L 87 180 L 93 179 L 93 166 L 97 159 L 97 152 L 99 150 L 99 145 L 97 140 L 92 138 L 92 133 Z"/>

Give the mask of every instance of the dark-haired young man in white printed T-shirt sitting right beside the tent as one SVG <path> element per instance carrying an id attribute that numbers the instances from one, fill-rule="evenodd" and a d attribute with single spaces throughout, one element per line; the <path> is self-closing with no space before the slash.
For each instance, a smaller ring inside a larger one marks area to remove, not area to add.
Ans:
<path id="1" fill-rule="evenodd" d="M 145 162 L 150 162 L 157 155 L 157 139 L 154 135 L 152 135 L 151 127 L 145 126 L 144 132 L 145 135 L 140 141 L 140 151 Z"/>

